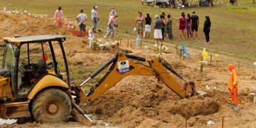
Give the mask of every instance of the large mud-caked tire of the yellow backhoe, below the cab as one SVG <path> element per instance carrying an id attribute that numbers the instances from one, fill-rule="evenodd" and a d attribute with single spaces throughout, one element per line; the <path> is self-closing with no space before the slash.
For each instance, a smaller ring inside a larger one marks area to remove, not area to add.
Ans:
<path id="1" fill-rule="evenodd" d="M 49 88 L 38 93 L 33 100 L 31 113 L 38 123 L 67 122 L 72 110 L 67 93 Z"/>

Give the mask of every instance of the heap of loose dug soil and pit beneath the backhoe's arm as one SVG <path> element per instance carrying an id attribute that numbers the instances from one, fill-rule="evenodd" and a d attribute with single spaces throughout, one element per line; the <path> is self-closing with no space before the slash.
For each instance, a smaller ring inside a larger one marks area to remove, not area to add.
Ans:
<path id="1" fill-rule="evenodd" d="M 164 84 L 157 83 L 154 77 L 129 76 L 99 99 L 82 104 L 81 108 L 94 115 L 94 120 L 107 119 L 110 124 L 124 127 L 139 126 L 146 119 L 157 120 L 161 124 L 179 122 L 177 126 L 181 126 L 186 113 L 188 119 L 212 115 L 218 113 L 220 104 L 215 97 L 201 95 L 180 99 Z"/>

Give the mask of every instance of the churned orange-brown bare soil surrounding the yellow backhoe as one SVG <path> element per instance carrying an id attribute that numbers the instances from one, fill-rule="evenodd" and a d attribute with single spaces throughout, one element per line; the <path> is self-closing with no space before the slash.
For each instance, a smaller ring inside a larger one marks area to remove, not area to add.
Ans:
<path id="1" fill-rule="evenodd" d="M 47 19 L 47 17 L 45 17 Z M 6 36 L 25 36 L 38 34 L 60 34 L 67 36 L 65 51 L 70 70 L 83 67 L 100 67 L 118 49 L 110 51 L 91 51 L 88 49 L 88 38 L 71 35 L 65 28 L 59 28 L 47 22 L 23 15 L 6 15 L 0 13 L 0 42 Z M 28 25 L 28 27 L 27 27 Z M 127 42 L 122 41 L 120 51 L 131 51 L 134 55 L 145 58 L 155 58 L 157 54 L 152 50 L 154 44 L 143 42 L 151 49 L 136 49 L 135 41 L 132 47 L 127 47 Z M 186 113 L 188 127 L 221 127 L 222 117 L 224 127 L 255 127 L 256 103 L 249 100 L 248 93 L 256 92 L 256 69 L 241 66 L 239 70 L 239 100 L 241 110 L 237 113 L 229 108 L 232 104 L 228 93 L 228 79 L 230 72 L 227 70 L 229 63 L 222 61 L 216 68 L 216 63 L 205 65 L 204 72 L 200 72 L 197 49 L 188 47 L 191 58 L 180 60 L 175 58 L 174 45 L 165 43 L 169 53 L 161 57 L 168 61 L 176 72 L 190 81 L 194 81 L 196 89 L 211 93 L 213 97 L 195 96 L 191 99 L 180 99 L 164 84 L 158 83 L 154 76 L 129 76 L 125 77 L 113 88 L 104 93 L 93 102 L 81 104 L 81 108 L 94 120 L 91 127 L 185 127 Z M 1 48 L 3 51 L 3 48 Z M 57 55 L 58 56 L 58 55 Z M 229 56 L 221 56 L 225 60 Z M 234 58 L 236 59 L 236 58 Z M 237 64 L 236 64 L 237 66 Z M 82 74 L 84 79 L 89 74 Z M 172 75 L 173 76 L 173 75 Z M 175 77 L 175 76 L 173 76 Z M 82 80 L 84 80 L 82 79 Z M 180 84 L 184 84 L 175 77 Z M 96 83 L 92 81 L 91 83 Z M 77 84 L 77 79 L 72 79 L 72 84 Z M 89 86 L 90 84 L 86 84 Z M 205 88 L 206 85 L 210 89 Z M 88 93 L 88 91 L 84 91 Z M 207 121 L 214 120 L 213 125 Z M 58 124 L 37 124 L 31 120 L 23 124 L 3 124 L 0 127 L 88 127 L 74 122 Z"/>

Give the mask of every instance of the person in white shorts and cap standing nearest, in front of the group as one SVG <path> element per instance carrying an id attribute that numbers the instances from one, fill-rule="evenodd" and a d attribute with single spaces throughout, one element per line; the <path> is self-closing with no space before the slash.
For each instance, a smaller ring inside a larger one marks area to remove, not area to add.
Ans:
<path id="1" fill-rule="evenodd" d="M 159 19 L 159 16 L 156 15 L 155 16 L 156 21 L 154 22 L 154 38 L 156 39 L 156 43 L 157 43 L 157 54 L 159 51 L 159 40 L 161 42 L 161 47 L 163 45 L 163 35 L 162 35 L 162 30 L 161 30 L 161 24 L 162 21 Z M 160 54 L 161 54 L 161 49 L 160 49 Z"/>

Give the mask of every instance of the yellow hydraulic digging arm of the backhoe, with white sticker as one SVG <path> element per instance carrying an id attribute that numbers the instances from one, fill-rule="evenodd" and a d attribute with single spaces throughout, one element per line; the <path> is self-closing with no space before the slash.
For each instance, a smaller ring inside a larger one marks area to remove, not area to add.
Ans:
<path id="1" fill-rule="evenodd" d="M 136 63 L 134 60 L 147 61 L 148 65 L 144 65 L 143 63 Z M 88 95 L 84 95 L 83 91 L 81 90 L 81 86 L 83 86 L 83 84 L 86 83 L 89 79 L 93 79 L 93 77 L 97 76 L 109 65 L 111 65 L 111 67 L 109 67 L 105 76 L 102 77 L 102 79 L 100 79 L 100 81 L 90 89 L 90 93 L 88 93 Z M 180 84 L 171 76 L 170 72 L 185 81 L 183 87 L 180 86 Z M 175 72 L 170 64 L 163 59 L 154 58 L 147 60 L 146 58 L 139 56 L 118 52 L 113 58 L 110 58 L 104 65 L 102 65 L 102 67 L 93 72 L 93 74 L 91 74 L 90 77 L 86 79 L 86 81 L 84 81 L 82 84 L 79 86 L 71 87 L 71 91 L 75 92 L 72 94 L 76 96 L 74 100 L 78 104 L 79 102 L 86 102 L 86 100 L 96 100 L 102 94 L 107 92 L 109 88 L 115 86 L 115 84 L 121 81 L 124 77 L 131 75 L 156 76 L 160 83 L 164 83 L 182 99 L 189 98 L 193 95 L 198 95 L 195 89 L 195 83 L 184 79 L 184 77 Z"/>

